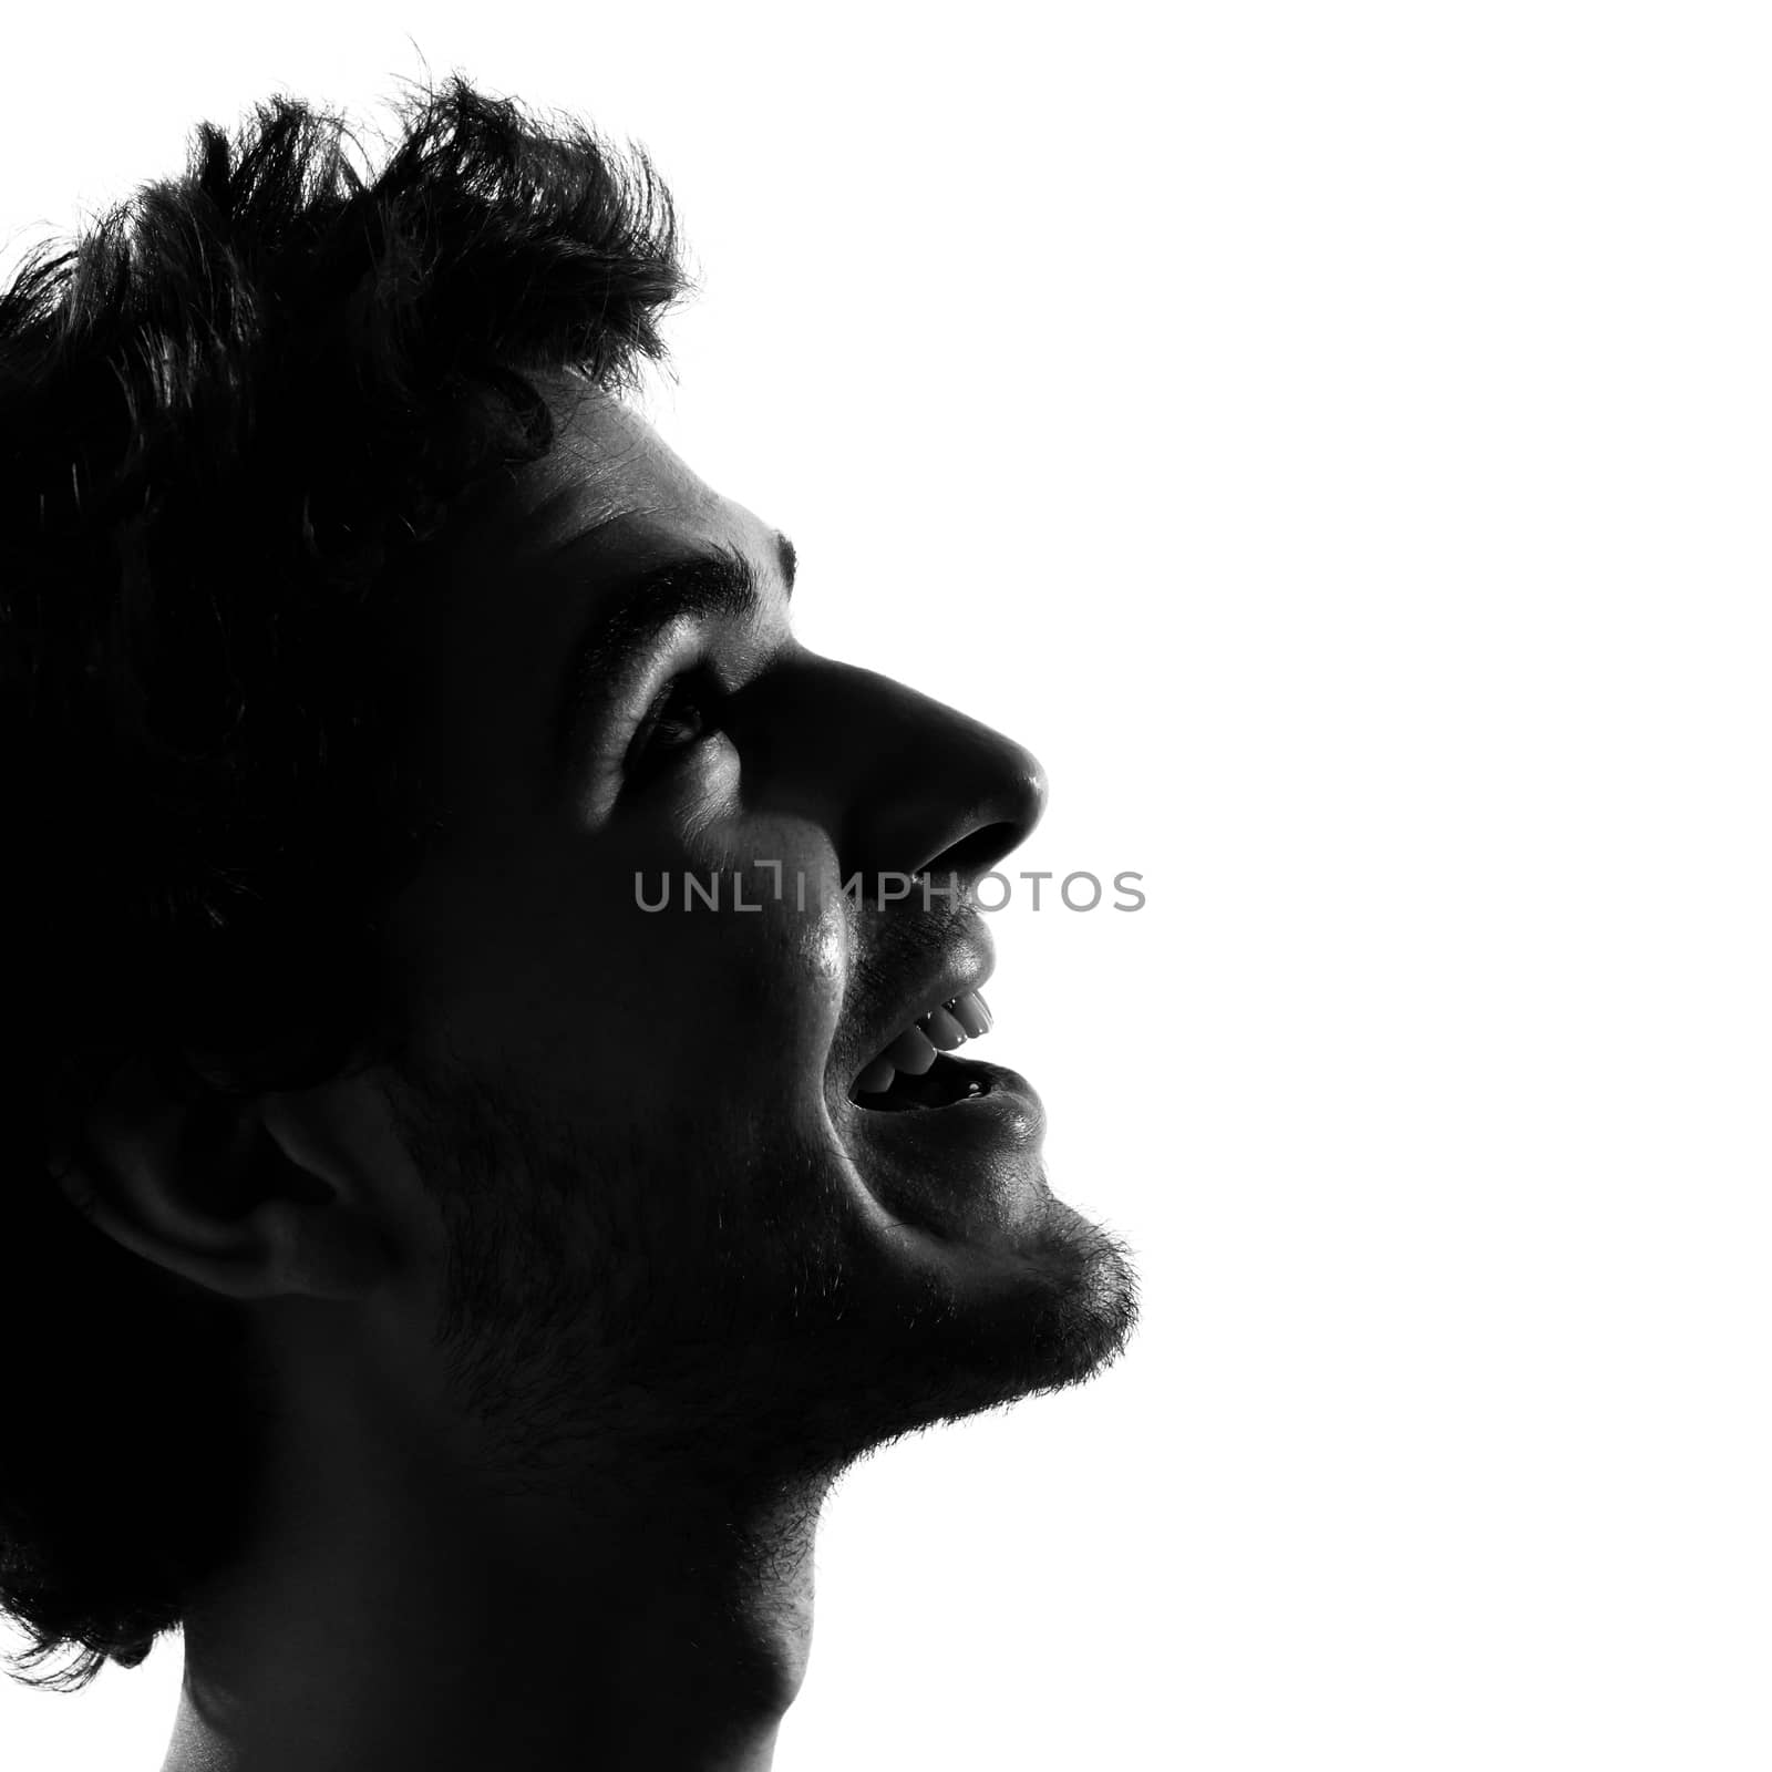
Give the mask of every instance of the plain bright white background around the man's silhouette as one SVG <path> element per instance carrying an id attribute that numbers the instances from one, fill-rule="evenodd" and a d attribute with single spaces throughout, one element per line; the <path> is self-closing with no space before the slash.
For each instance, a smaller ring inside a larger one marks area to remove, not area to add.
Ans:
<path id="1" fill-rule="evenodd" d="M 780 1772 L 1772 1763 L 1758 23 L 9 23 L 14 252 L 420 51 L 650 144 L 666 436 L 810 643 L 1044 757 L 1021 865 L 1146 877 L 1001 914 L 991 991 L 1143 1333 L 845 1481 Z M 175 1680 L 0 1690 L 5 1763 L 149 1772 Z"/>

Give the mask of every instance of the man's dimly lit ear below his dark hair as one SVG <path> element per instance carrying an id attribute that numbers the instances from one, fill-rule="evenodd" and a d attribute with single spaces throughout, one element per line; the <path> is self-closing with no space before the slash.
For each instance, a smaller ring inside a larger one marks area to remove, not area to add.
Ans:
<path id="1" fill-rule="evenodd" d="M 230 1097 L 129 1060 L 57 1178 L 96 1228 L 211 1292 L 363 1297 L 395 1262 L 370 1095 Z"/>

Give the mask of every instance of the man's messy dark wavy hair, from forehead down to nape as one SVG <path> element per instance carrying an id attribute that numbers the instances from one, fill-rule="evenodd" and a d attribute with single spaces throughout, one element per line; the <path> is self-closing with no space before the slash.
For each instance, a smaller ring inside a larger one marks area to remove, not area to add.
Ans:
<path id="1" fill-rule="evenodd" d="M 57 1185 L 106 1077 L 299 1088 L 383 1051 L 425 826 L 390 762 L 402 579 L 533 461 L 537 379 L 634 381 L 684 273 L 638 149 L 459 76 L 381 170 L 271 99 L 0 291 L 0 1611 L 21 1678 L 135 1666 L 225 1563 L 237 1306 Z"/>

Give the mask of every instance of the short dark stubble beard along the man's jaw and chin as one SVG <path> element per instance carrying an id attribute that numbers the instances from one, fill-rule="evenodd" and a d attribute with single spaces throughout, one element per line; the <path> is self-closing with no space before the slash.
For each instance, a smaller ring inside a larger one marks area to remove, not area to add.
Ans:
<path id="1" fill-rule="evenodd" d="M 861 1235 L 828 1155 L 792 1136 L 686 1122 L 649 1155 L 638 1129 L 553 1122 L 512 1079 L 425 1102 L 400 1118 L 448 1221 L 438 1345 L 525 1487 L 813 1497 L 905 1434 L 1081 1382 L 1136 1322 L 1123 1246 L 1051 1198 L 973 1295 Z"/>

